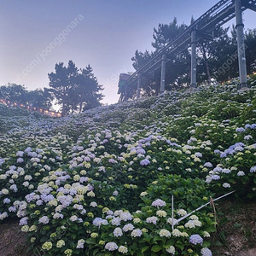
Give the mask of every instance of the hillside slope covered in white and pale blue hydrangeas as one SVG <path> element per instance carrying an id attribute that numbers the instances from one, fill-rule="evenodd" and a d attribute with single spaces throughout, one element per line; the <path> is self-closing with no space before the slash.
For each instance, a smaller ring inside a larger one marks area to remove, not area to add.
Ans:
<path id="1" fill-rule="evenodd" d="M 193 211 L 256 197 L 254 86 L 0 119 L 0 221 L 36 255 L 209 256 L 212 208 Z"/>

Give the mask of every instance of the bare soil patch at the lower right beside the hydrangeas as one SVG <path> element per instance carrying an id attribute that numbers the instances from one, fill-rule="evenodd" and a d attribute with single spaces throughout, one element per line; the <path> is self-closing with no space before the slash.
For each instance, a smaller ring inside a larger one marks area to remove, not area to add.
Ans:
<path id="1" fill-rule="evenodd" d="M 256 256 L 256 201 L 222 201 L 216 206 L 214 256 Z"/>

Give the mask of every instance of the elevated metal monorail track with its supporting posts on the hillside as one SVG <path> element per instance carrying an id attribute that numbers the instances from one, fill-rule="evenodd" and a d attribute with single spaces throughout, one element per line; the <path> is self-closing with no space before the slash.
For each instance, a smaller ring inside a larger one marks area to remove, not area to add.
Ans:
<path id="1" fill-rule="evenodd" d="M 243 22 L 241 13 L 251 9 L 256 11 L 256 0 L 222 0 L 201 15 L 183 32 L 172 39 L 169 44 L 155 54 L 143 67 L 139 68 L 126 80 L 125 91 L 121 93 L 119 102 L 127 100 L 126 90 L 131 84 L 137 83 L 137 98 L 140 96 L 141 81 L 161 68 L 160 94 L 165 91 L 166 63 L 175 60 L 184 49 L 191 47 L 191 87 L 196 87 L 196 44 L 202 39 L 213 39 L 213 32 L 218 26 L 236 17 L 237 52 L 239 63 L 240 86 L 247 87 L 247 69 Z"/>

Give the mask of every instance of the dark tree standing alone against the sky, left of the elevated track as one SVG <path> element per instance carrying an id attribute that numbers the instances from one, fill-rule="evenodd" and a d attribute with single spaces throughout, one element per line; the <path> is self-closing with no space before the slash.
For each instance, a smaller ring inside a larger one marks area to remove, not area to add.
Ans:
<path id="1" fill-rule="evenodd" d="M 98 84 L 92 67 L 83 69 L 68 61 L 55 64 L 55 73 L 49 73 L 50 92 L 61 105 L 62 115 L 82 112 L 85 109 L 100 106 L 102 85 Z"/>

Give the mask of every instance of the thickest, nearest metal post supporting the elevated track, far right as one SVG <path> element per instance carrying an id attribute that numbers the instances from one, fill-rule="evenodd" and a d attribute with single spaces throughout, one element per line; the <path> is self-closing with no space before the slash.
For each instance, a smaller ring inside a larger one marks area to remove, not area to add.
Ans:
<path id="1" fill-rule="evenodd" d="M 236 36 L 237 36 L 237 53 L 240 77 L 240 89 L 247 87 L 247 63 L 245 55 L 245 44 L 243 38 L 243 23 L 241 15 L 241 0 L 235 0 L 236 12 Z"/>

